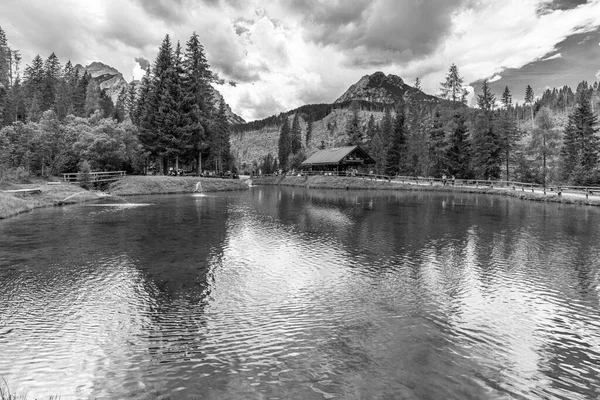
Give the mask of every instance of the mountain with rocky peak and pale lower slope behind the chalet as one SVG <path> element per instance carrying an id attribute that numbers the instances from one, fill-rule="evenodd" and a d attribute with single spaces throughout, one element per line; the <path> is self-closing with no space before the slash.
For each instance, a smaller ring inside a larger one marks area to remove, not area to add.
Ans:
<path id="1" fill-rule="evenodd" d="M 363 76 L 332 104 L 307 104 L 263 120 L 232 126 L 231 150 L 242 168 L 244 165 L 251 167 L 260 164 L 262 158 L 269 153 L 277 157 L 281 124 L 284 118 L 293 118 L 296 113 L 300 115 L 303 144 L 306 144 L 307 123 L 309 120 L 313 121 L 312 140 L 305 147 L 308 155 L 321 145 L 345 145 L 348 140 L 346 124 L 356 109 L 361 127 L 366 131 L 371 116 L 376 122 L 380 122 L 386 109 L 391 109 L 392 114 L 395 114 L 395 105 L 400 100 L 425 108 L 445 102 L 407 85 L 396 75 L 375 72 Z"/>

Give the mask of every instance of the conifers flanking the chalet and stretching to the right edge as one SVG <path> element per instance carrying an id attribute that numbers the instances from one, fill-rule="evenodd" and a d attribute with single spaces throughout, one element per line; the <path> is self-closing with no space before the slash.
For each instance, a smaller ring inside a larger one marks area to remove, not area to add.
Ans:
<path id="1" fill-rule="evenodd" d="M 600 184 L 598 83 L 582 82 L 575 92 L 566 86 L 548 89 L 537 99 L 527 86 L 524 103 L 517 104 L 508 87 L 496 99 L 484 80 L 477 107 L 469 108 L 466 87 L 453 64 L 439 96 L 447 101 L 430 105 L 400 100 L 384 108 L 380 118 L 371 113 L 364 120 L 361 106 L 353 104 L 336 145 L 361 145 L 380 174 Z M 299 158 L 305 150 L 291 145 L 299 134 L 287 121 L 286 116 L 278 159 L 263 159 L 263 171 L 274 165 L 294 169 L 303 161 Z M 308 141 L 310 134 L 306 137 Z"/>

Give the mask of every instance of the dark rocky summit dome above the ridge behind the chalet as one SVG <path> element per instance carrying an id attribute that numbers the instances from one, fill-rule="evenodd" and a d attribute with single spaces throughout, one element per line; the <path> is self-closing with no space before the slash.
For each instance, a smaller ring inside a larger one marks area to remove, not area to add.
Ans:
<path id="1" fill-rule="evenodd" d="M 400 99 L 422 103 L 440 102 L 439 98 L 425 94 L 419 89 L 405 84 L 399 76 L 386 75 L 378 71 L 372 75 L 365 75 L 360 78 L 335 103 L 362 100 L 372 103 L 395 104 Z"/>

